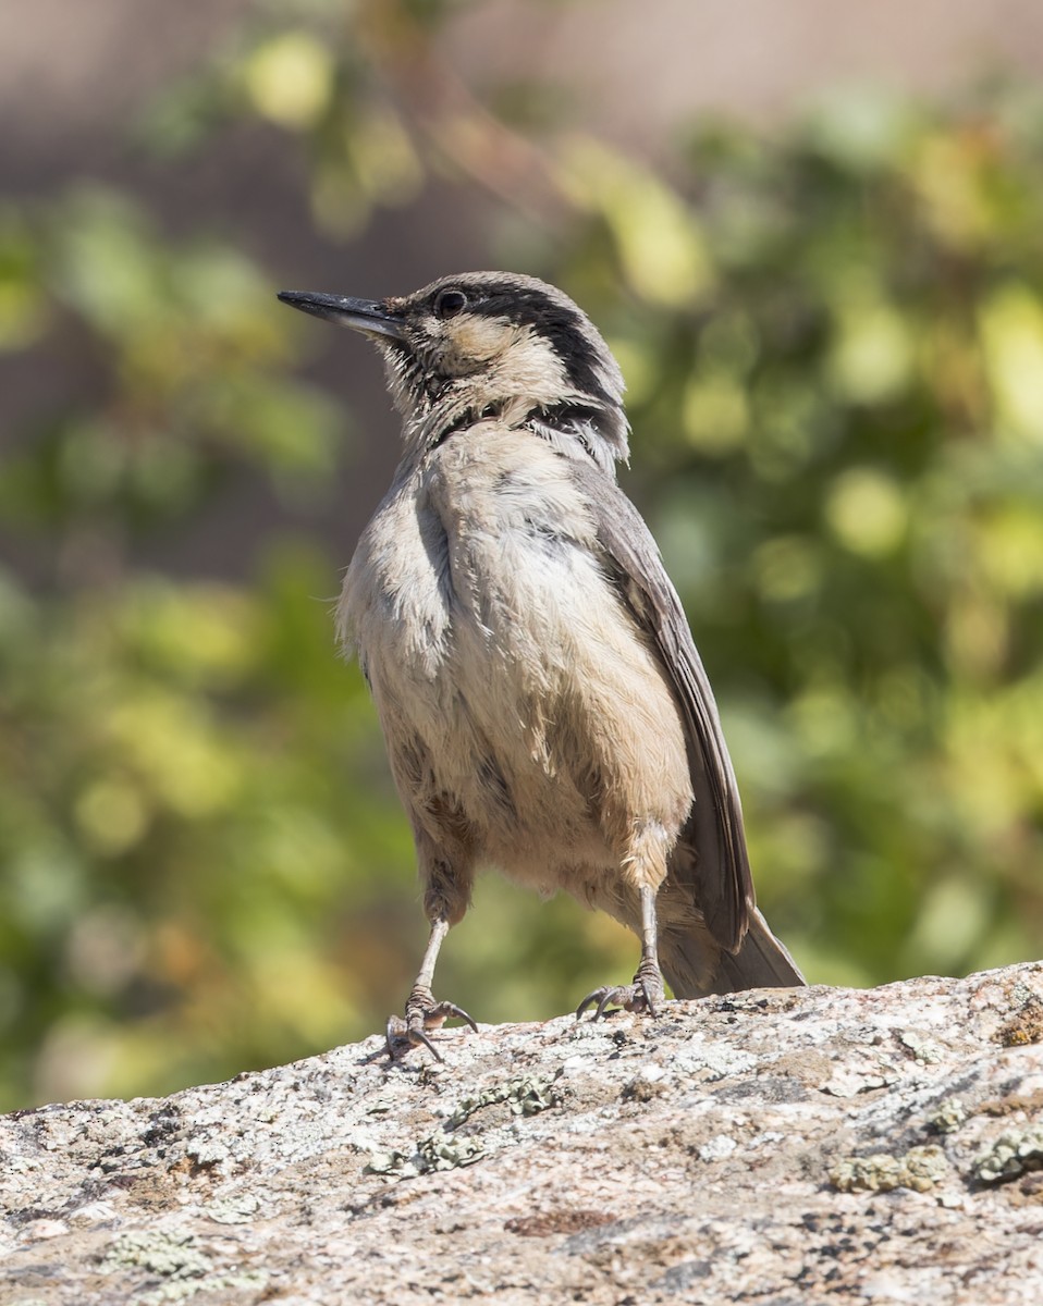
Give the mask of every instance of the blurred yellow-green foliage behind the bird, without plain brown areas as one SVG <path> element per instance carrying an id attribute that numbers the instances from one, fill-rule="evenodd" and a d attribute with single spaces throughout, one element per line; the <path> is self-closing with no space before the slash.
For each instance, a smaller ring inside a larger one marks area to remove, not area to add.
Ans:
<path id="1" fill-rule="evenodd" d="M 623 366 L 626 483 L 718 690 L 761 901 L 810 978 L 1038 956 L 1043 104 L 838 95 L 770 136 L 699 124 L 652 166 L 490 112 L 524 88 L 440 95 L 451 9 L 272 8 L 144 137 L 175 167 L 264 120 L 341 239 L 433 172 L 497 195 L 502 260 L 574 294 Z M 410 840 L 332 650 L 346 559 L 273 539 L 242 584 L 137 560 L 238 477 L 331 483 L 345 414 L 295 375 L 320 337 L 281 279 L 111 191 L 0 210 L 0 349 L 73 350 L 95 377 L 14 432 L 0 475 L 0 526 L 43 572 L 0 572 L 8 1107 L 303 1055 L 378 1028 L 413 974 Z M 438 989 L 535 1017 L 633 961 L 605 918 L 489 880 Z"/>

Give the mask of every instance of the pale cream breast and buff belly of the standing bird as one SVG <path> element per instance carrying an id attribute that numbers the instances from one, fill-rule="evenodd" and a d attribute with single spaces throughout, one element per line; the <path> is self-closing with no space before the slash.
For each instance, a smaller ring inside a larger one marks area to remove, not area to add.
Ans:
<path id="1" fill-rule="evenodd" d="M 684 825 L 684 726 L 596 554 L 552 529 L 567 515 L 512 503 L 392 505 L 344 606 L 414 824 L 448 804 L 481 861 L 583 897 L 638 824 Z"/>

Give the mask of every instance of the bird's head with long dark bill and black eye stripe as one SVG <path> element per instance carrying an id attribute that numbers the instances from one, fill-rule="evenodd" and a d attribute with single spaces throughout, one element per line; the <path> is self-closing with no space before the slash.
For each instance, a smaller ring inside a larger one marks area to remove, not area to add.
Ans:
<path id="1" fill-rule="evenodd" d="M 465 272 L 401 298 L 278 298 L 370 337 L 410 444 L 497 417 L 578 443 L 608 473 L 627 456 L 616 359 L 587 315 L 536 277 Z"/>

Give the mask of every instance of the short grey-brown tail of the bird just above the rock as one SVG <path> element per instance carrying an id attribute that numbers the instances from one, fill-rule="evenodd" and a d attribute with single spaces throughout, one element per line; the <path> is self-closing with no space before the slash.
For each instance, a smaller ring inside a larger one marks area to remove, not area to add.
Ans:
<path id="1" fill-rule="evenodd" d="M 749 929 L 735 955 L 718 947 L 706 930 L 685 934 L 670 930 L 660 939 L 660 961 L 677 998 L 744 989 L 793 989 L 806 982 L 757 908 L 750 910 Z"/>

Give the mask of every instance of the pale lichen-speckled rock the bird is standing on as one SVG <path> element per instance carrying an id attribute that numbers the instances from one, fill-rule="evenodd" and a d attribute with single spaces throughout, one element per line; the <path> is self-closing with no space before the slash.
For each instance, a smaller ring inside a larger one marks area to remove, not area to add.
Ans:
<path id="1" fill-rule="evenodd" d="M 0 1122 L 3 1306 L 1043 1302 L 1043 965 Z"/>

